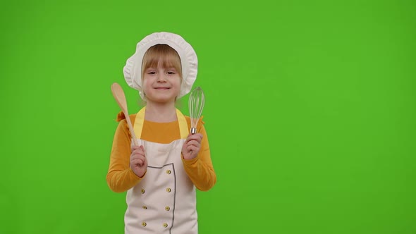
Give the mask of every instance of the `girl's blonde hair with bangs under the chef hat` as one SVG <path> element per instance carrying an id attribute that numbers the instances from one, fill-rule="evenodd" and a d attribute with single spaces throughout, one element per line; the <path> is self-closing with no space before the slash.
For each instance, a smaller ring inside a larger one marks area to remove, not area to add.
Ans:
<path id="1" fill-rule="evenodd" d="M 175 68 L 182 80 L 181 57 L 178 52 L 167 44 L 155 44 L 147 49 L 142 61 L 142 80 L 147 68 Z"/>

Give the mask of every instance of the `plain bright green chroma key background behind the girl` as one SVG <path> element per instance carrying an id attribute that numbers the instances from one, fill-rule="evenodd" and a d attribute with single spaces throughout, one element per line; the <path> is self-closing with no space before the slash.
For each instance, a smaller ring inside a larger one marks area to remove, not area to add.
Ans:
<path id="1" fill-rule="evenodd" d="M 5 1 L 0 233 L 123 233 L 126 59 L 182 35 L 218 181 L 200 233 L 416 233 L 415 1 Z M 188 113 L 187 101 L 180 106 Z"/>

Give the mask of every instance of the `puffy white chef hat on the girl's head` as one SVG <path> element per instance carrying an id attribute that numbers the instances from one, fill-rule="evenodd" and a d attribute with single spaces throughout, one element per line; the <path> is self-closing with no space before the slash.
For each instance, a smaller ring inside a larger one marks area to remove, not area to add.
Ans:
<path id="1" fill-rule="evenodd" d="M 197 79 L 198 59 L 191 45 L 180 35 L 171 32 L 154 32 L 137 43 L 133 56 L 127 59 L 123 68 L 128 86 L 139 90 L 140 97 L 145 99 L 142 88 L 142 60 L 147 49 L 156 44 L 167 44 L 178 52 L 182 65 L 182 85 L 178 98 L 188 94 Z"/>

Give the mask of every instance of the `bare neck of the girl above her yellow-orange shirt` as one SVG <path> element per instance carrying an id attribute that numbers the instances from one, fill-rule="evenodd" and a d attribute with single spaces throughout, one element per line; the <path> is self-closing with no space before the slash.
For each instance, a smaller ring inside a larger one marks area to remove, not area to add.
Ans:
<path id="1" fill-rule="evenodd" d="M 145 120 L 159 123 L 176 121 L 176 107 L 174 104 L 147 102 Z"/>

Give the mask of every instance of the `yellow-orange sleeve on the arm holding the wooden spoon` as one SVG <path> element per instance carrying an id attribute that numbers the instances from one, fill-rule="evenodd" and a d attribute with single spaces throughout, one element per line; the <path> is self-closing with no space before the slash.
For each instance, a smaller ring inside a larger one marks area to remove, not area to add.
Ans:
<path id="1" fill-rule="evenodd" d="M 135 116 L 130 116 L 132 123 Z M 118 121 L 120 119 L 118 118 Z M 114 192 L 125 192 L 140 182 L 141 178 L 130 168 L 131 137 L 126 119 L 118 123 L 110 154 L 107 184 Z"/>

